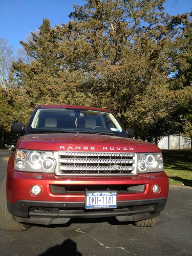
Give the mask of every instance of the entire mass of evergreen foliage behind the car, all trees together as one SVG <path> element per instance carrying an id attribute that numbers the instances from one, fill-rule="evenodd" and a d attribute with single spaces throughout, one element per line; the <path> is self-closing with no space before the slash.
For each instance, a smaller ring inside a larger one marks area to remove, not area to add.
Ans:
<path id="1" fill-rule="evenodd" d="M 163 3 L 88 0 L 68 24 L 44 19 L 20 42 L 30 61 L 13 62 L 15 119 L 37 104 L 81 104 L 111 109 L 142 138 L 190 134 L 191 21 Z"/>

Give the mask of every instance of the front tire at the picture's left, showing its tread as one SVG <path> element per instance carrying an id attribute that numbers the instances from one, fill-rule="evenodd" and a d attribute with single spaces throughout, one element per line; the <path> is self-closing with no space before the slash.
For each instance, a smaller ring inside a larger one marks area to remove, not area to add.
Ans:
<path id="1" fill-rule="evenodd" d="M 10 214 L 8 211 L 6 196 L 6 179 L 4 179 L 0 189 L 0 226 L 3 229 L 12 231 L 24 231 L 30 228 L 29 225 L 25 225 L 14 221 L 12 214 Z"/>

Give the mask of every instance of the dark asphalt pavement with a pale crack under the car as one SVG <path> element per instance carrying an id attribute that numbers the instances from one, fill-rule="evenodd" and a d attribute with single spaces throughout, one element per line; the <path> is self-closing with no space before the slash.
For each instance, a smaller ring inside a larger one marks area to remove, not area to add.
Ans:
<path id="1" fill-rule="evenodd" d="M 0 150 L 0 183 L 10 154 Z M 115 218 L 73 219 L 66 225 L 32 226 L 23 232 L 0 227 L 0 255 L 192 255 L 191 198 L 191 187 L 171 186 L 154 228 Z"/>

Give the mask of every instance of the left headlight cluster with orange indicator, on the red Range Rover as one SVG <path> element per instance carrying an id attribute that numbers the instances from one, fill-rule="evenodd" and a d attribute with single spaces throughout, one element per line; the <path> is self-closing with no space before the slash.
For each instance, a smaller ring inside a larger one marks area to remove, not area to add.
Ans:
<path id="1" fill-rule="evenodd" d="M 16 150 L 15 170 L 54 173 L 55 166 L 56 161 L 53 152 Z"/>

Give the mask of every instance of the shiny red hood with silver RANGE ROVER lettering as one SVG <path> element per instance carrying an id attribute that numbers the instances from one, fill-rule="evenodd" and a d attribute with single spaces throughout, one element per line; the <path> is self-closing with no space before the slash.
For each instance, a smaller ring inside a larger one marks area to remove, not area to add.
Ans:
<path id="1" fill-rule="evenodd" d="M 36 134 L 21 137 L 17 148 L 49 151 L 160 152 L 158 146 L 133 140 L 97 134 Z"/>

